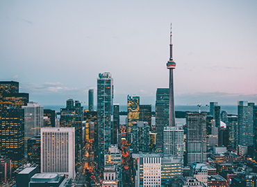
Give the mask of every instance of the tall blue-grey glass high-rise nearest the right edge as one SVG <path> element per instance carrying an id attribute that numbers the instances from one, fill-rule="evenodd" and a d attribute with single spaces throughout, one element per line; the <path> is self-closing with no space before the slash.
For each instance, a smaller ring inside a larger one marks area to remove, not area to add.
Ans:
<path id="1" fill-rule="evenodd" d="M 247 101 L 238 101 L 238 145 L 254 145 L 254 107 Z"/>

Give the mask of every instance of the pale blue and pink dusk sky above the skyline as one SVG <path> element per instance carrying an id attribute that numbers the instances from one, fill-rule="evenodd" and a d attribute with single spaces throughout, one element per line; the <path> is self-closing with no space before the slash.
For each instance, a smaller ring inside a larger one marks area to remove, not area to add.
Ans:
<path id="1" fill-rule="evenodd" d="M 168 87 L 172 23 L 175 105 L 257 103 L 257 1 L 0 1 L 0 80 L 40 105 L 88 105 L 110 72 L 114 103 L 155 104 Z"/>

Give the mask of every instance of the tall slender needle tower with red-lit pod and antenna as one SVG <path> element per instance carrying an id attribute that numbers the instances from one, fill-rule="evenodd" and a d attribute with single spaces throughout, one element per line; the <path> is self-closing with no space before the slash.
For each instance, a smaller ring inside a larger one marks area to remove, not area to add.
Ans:
<path id="1" fill-rule="evenodd" d="M 172 24 L 170 24 L 170 44 L 169 44 L 169 61 L 167 69 L 169 69 L 169 126 L 175 127 L 175 105 L 174 105 L 174 87 L 173 87 L 173 69 L 176 68 L 176 62 L 172 57 Z"/>

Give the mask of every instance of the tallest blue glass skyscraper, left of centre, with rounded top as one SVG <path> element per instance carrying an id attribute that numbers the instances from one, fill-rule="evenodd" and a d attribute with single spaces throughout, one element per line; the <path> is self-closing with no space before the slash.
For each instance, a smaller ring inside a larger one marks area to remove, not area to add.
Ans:
<path id="1" fill-rule="evenodd" d="M 98 159 L 103 166 L 104 154 L 113 141 L 113 78 L 108 72 L 99 73 L 97 78 L 97 121 L 98 121 Z"/>

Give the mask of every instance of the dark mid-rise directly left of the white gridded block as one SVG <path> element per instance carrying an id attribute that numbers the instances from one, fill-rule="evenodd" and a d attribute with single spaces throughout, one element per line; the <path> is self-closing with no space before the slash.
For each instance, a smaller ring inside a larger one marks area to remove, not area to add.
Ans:
<path id="1" fill-rule="evenodd" d="M 28 139 L 28 162 L 37 163 L 39 170 L 41 166 L 41 137 L 40 135 Z"/>

